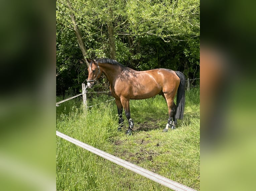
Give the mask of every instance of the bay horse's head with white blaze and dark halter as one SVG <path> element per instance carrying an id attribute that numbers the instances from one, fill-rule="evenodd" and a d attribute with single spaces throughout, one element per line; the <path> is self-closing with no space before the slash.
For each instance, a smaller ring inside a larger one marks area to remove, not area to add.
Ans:
<path id="1" fill-rule="evenodd" d="M 88 60 L 88 62 L 90 63 L 88 67 L 89 75 L 86 81 L 87 81 L 88 88 L 93 88 L 93 86 L 97 83 L 97 80 L 101 76 L 101 71 L 100 71 L 98 62 L 96 60 L 91 60 L 91 61 Z"/>

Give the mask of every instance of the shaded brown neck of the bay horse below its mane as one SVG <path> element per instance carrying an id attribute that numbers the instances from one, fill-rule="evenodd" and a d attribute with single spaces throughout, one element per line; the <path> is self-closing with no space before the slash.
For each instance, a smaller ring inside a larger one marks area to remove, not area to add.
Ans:
<path id="1" fill-rule="evenodd" d="M 99 66 L 102 69 L 102 73 L 107 77 L 110 84 L 117 78 L 117 76 L 121 73 L 122 69 L 118 65 L 112 64 L 100 64 Z"/>

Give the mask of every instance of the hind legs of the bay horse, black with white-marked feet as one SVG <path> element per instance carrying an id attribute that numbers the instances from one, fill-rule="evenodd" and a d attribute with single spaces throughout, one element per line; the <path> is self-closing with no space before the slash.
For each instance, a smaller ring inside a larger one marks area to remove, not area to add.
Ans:
<path id="1" fill-rule="evenodd" d="M 163 129 L 163 132 L 167 132 L 168 129 L 171 127 L 171 129 L 175 129 L 175 112 L 176 112 L 176 105 L 173 102 L 173 97 L 168 97 L 167 95 L 163 95 L 167 105 L 168 105 L 168 111 L 169 111 L 169 118 L 168 118 L 168 122 L 165 126 L 165 128 Z M 173 119 L 173 121 L 172 121 Z M 176 119 L 177 120 L 177 119 Z"/>

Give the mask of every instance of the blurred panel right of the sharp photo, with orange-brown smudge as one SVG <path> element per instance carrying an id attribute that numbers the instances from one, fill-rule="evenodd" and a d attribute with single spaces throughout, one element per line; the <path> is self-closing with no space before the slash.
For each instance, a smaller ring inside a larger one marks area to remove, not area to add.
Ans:
<path id="1" fill-rule="evenodd" d="M 253 1 L 201 1 L 202 190 L 252 190 L 256 175 Z"/>

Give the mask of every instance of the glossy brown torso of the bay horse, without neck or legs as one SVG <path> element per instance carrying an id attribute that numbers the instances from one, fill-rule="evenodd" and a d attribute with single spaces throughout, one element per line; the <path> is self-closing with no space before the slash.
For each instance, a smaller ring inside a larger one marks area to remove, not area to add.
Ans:
<path id="1" fill-rule="evenodd" d="M 127 69 L 116 81 L 115 93 L 129 99 L 146 99 L 161 92 L 173 94 L 173 89 L 177 89 L 178 85 L 179 78 L 172 70 L 135 71 Z"/>

